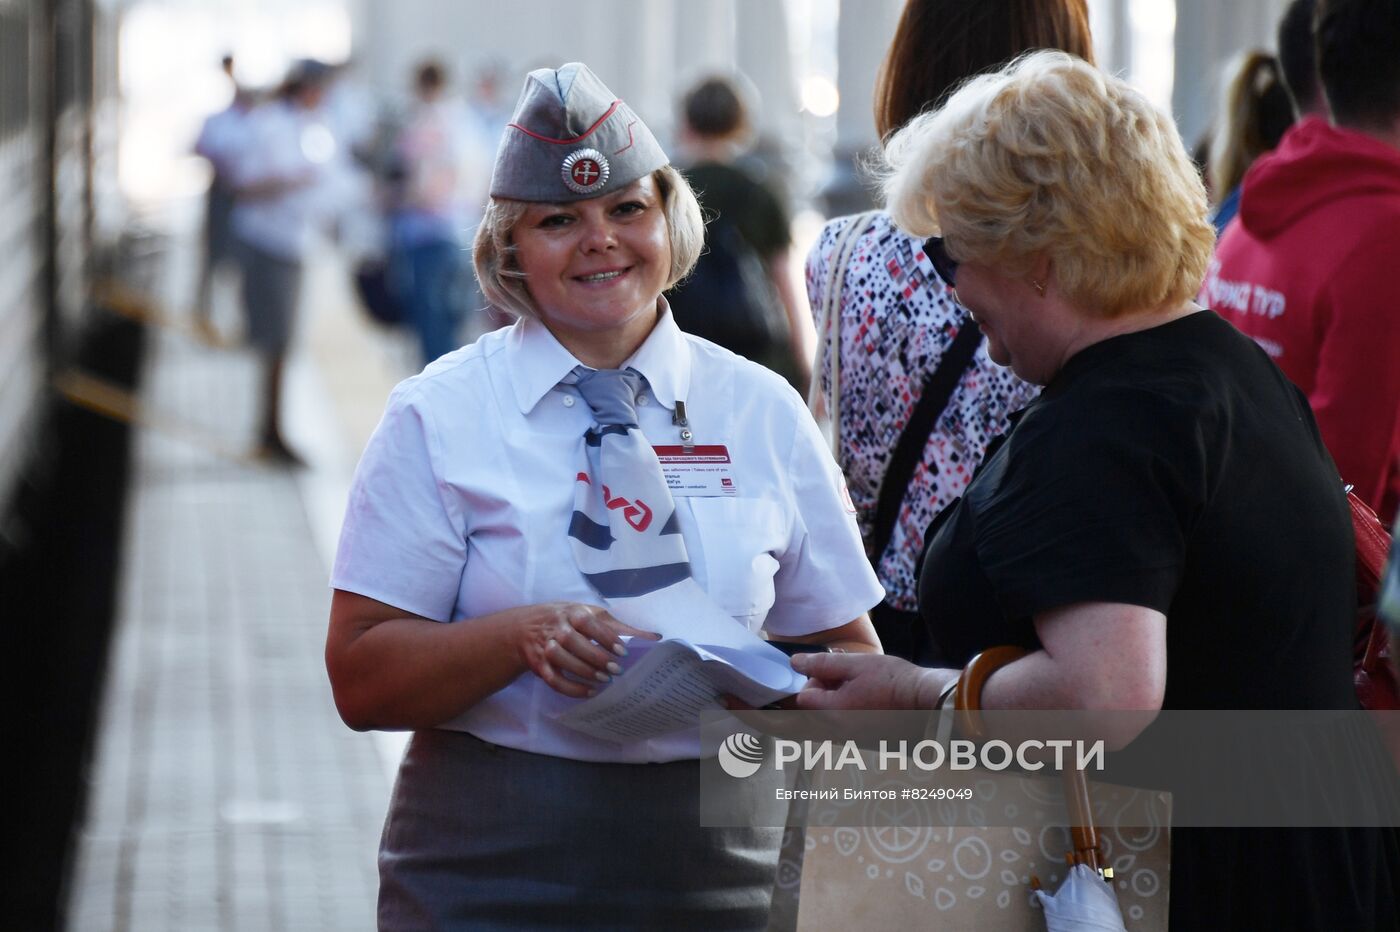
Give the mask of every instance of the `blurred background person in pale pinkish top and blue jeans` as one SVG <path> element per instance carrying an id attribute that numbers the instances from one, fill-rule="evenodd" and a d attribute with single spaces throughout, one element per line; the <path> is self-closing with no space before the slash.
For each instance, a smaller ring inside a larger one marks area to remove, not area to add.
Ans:
<path id="1" fill-rule="evenodd" d="M 447 84 L 441 62 L 417 66 L 413 111 L 395 143 L 399 197 L 391 221 L 391 281 L 424 365 L 461 346 L 462 238 L 472 225 L 466 188 L 473 171 L 486 172 L 468 162 L 469 116 Z"/>

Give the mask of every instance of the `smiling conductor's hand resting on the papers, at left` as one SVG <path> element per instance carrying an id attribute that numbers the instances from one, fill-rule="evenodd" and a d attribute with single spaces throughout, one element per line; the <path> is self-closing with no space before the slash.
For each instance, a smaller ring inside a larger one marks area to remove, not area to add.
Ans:
<path id="1" fill-rule="evenodd" d="M 620 635 L 661 635 L 623 624 L 596 605 L 546 602 L 524 617 L 517 630 L 521 661 L 552 690 L 573 698 L 592 696 L 622 668 L 627 651 Z"/>

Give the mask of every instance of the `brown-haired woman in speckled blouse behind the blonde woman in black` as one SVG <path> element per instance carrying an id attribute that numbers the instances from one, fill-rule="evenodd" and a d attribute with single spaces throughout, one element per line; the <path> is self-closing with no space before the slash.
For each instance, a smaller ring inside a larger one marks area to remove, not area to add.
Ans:
<path id="1" fill-rule="evenodd" d="M 879 71 L 876 130 L 888 137 L 973 74 L 1043 48 L 1093 60 L 1084 0 L 909 0 Z M 816 334 L 818 347 L 826 347 L 832 333 L 840 340 L 840 411 L 827 410 L 840 420 L 839 460 L 886 592 L 871 613 L 875 630 L 886 654 L 931 659 L 916 612 L 924 532 L 962 494 L 987 444 L 1007 430 L 1008 416 L 1039 389 L 977 348 L 970 361 L 963 355 L 953 364 L 956 371 L 948 375 L 955 388 L 944 410 L 932 411 L 928 434 L 906 437 L 920 397 L 970 323 L 923 239 L 900 231 L 885 211 L 853 234 L 858 239 L 850 263 L 833 271 L 833 253 L 851 223 L 851 217 L 830 221 L 806 260 L 813 313 L 827 301 L 833 273 L 840 290 L 837 322 Z M 969 339 L 980 344 L 974 330 L 963 337 L 965 346 Z M 830 358 L 825 348 L 818 354 Z M 830 365 L 823 364 L 819 378 L 830 400 Z M 916 467 L 906 488 L 886 490 L 885 476 L 900 446 L 911 452 Z M 885 495 L 890 498 L 882 509 Z"/>

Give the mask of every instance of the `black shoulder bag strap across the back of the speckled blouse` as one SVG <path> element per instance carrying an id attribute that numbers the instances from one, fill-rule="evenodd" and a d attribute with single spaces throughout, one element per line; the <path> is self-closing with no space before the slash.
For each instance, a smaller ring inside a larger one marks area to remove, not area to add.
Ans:
<path id="1" fill-rule="evenodd" d="M 924 390 L 918 396 L 913 414 L 904 425 L 904 432 L 895 444 L 895 452 L 889 458 L 885 469 L 885 479 L 879 484 L 879 500 L 875 502 L 875 526 L 871 533 L 871 564 L 879 565 L 889 546 L 889 539 L 895 535 L 895 522 L 899 519 L 899 507 L 909 491 L 909 480 L 914 476 L 914 467 L 924 458 L 924 448 L 928 445 L 928 435 L 934 430 L 939 414 L 948 407 L 948 400 L 962 381 L 963 372 L 972 364 L 981 344 L 981 330 L 973 323 L 970 316 L 963 316 L 958 327 L 958 336 L 938 365 L 928 378 L 924 379 Z"/>

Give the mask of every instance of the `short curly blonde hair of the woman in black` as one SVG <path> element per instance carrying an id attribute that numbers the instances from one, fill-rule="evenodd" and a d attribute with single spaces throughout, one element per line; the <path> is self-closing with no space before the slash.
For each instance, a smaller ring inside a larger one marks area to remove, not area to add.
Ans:
<path id="1" fill-rule="evenodd" d="M 1064 52 L 972 78 L 895 134 L 885 162 L 902 228 L 1008 276 L 1046 256 L 1060 292 L 1095 316 L 1190 299 L 1215 245 L 1176 126 Z"/>

